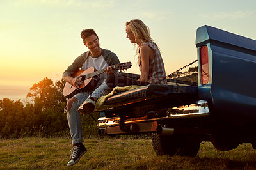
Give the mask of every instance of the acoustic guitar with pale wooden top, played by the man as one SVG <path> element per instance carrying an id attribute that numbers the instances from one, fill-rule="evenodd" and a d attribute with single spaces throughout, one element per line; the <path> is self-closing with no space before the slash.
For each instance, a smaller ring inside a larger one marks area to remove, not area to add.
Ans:
<path id="1" fill-rule="evenodd" d="M 126 62 L 112 65 L 111 67 L 113 68 L 113 70 L 127 70 L 128 68 L 131 68 L 131 65 L 131 62 Z M 74 87 L 72 84 L 66 82 L 62 92 L 63 95 L 67 98 L 70 98 L 77 93 L 81 93 L 82 91 L 92 91 L 99 81 L 99 77 L 97 77 L 97 75 L 104 73 L 104 70 L 105 69 L 96 70 L 93 66 L 87 68 L 86 70 L 78 70 L 72 75 L 72 77 L 78 77 L 80 75 L 83 75 L 79 79 L 81 79 L 84 84 L 80 86 L 81 89 L 76 89 L 76 87 Z"/>

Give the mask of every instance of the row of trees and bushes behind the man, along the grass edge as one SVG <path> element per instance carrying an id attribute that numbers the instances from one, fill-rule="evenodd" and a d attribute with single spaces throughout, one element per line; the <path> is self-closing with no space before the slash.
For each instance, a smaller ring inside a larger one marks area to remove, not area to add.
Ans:
<path id="1" fill-rule="evenodd" d="M 10 98 L 0 100 L 0 138 L 60 137 L 70 136 L 67 113 L 64 107 L 67 98 L 62 95 L 65 81 L 54 83 L 45 77 L 33 84 L 22 104 Z M 99 114 L 93 113 L 95 119 Z M 97 135 L 96 121 L 88 114 L 81 115 L 84 137 Z"/>

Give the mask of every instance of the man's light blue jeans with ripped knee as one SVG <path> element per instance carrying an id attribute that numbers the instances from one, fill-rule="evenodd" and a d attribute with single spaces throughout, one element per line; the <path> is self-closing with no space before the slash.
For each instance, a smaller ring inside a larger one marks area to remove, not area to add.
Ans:
<path id="1" fill-rule="evenodd" d="M 101 97 L 104 95 L 104 89 L 109 89 L 105 81 L 92 93 L 92 97 Z M 83 104 L 83 102 L 89 97 L 90 93 L 83 92 L 74 95 L 77 101 L 72 104 L 70 111 L 65 107 L 65 112 L 67 112 L 68 126 L 70 129 L 70 135 L 72 137 L 72 144 L 83 143 L 83 130 L 81 117 L 78 112 L 78 107 Z"/>

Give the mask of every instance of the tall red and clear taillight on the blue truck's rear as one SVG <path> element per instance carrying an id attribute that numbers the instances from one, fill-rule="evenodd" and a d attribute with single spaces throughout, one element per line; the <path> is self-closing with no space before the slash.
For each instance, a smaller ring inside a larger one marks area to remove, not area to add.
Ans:
<path id="1" fill-rule="evenodd" d="M 200 47 L 201 84 L 205 85 L 209 80 L 209 59 L 206 45 Z"/>

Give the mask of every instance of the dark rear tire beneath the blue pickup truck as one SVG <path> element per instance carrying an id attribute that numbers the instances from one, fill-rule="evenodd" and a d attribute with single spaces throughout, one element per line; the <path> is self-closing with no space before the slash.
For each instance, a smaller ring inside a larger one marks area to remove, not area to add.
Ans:
<path id="1" fill-rule="evenodd" d="M 152 134 L 152 146 L 157 155 L 195 157 L 199 151 L 200 143 L 200 141 L 187 136 Z"/>

